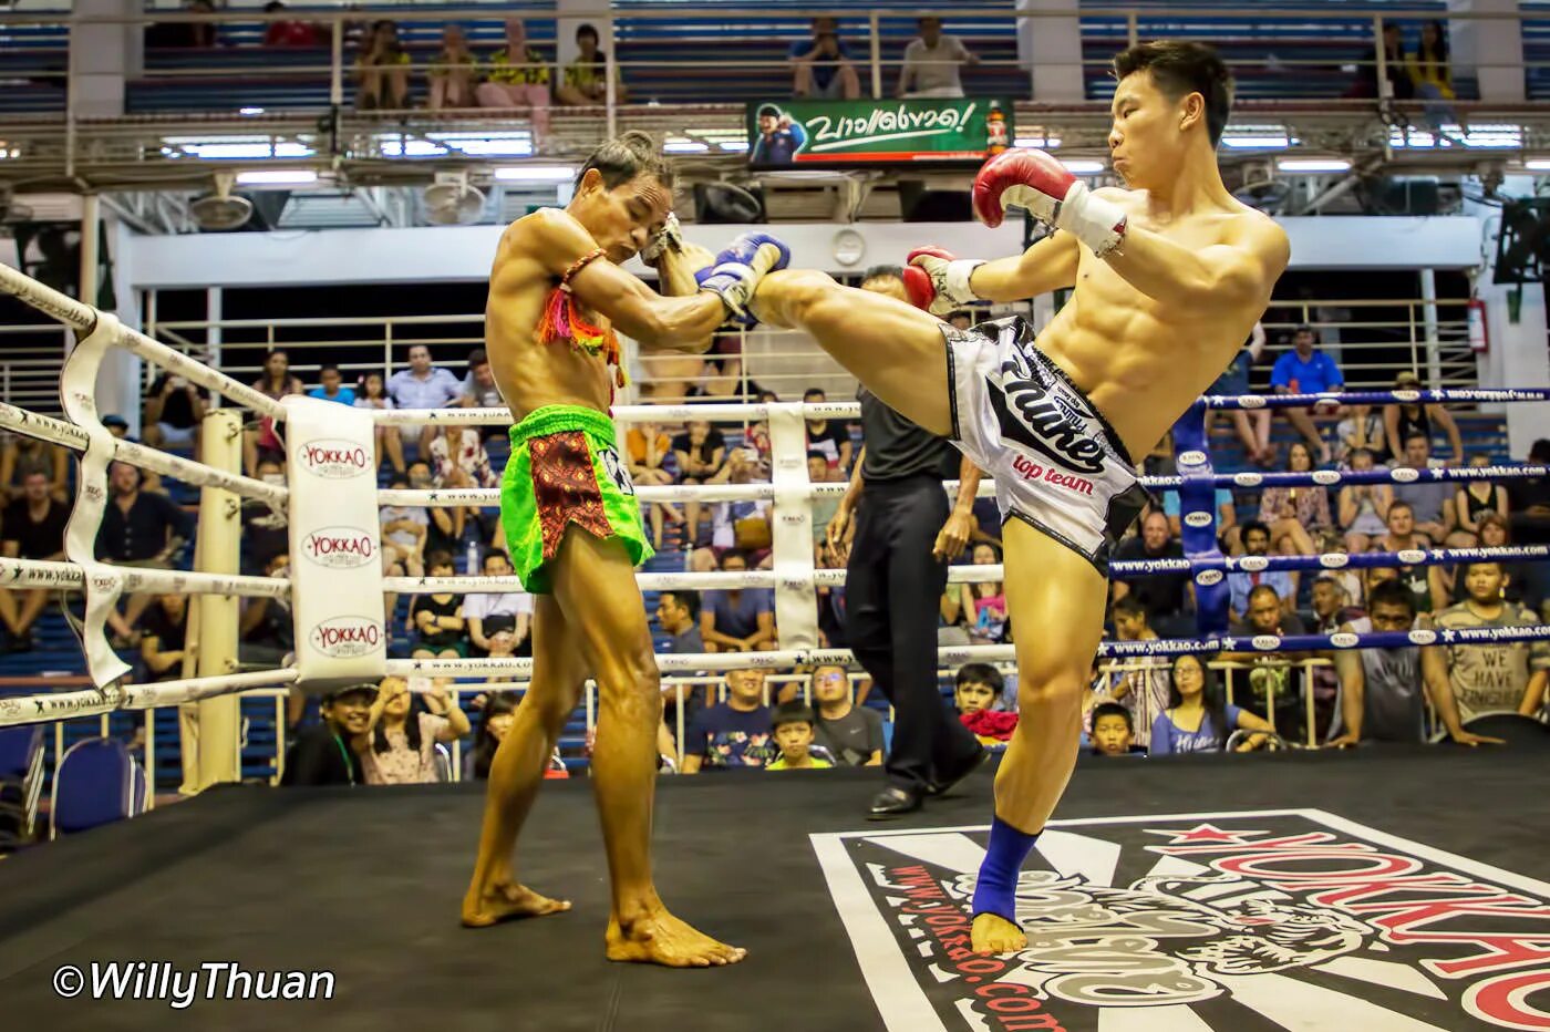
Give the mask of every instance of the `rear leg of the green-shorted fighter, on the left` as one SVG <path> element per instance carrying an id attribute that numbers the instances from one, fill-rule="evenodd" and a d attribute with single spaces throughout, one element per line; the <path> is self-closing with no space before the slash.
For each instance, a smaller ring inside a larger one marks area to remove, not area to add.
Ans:
<path id="1" fill-rule="evenodd" d="M 581 699 L 586 674 L 581 643 L 560 603 L 539 595 L 533 612 L 533 679 L 490 764 L 479 855 L 462 906 L 468 928 L 570 910 L 569 900 L 547 899 L 516 880 L 512 849 L 533 809 L 560 731 Z"/>

